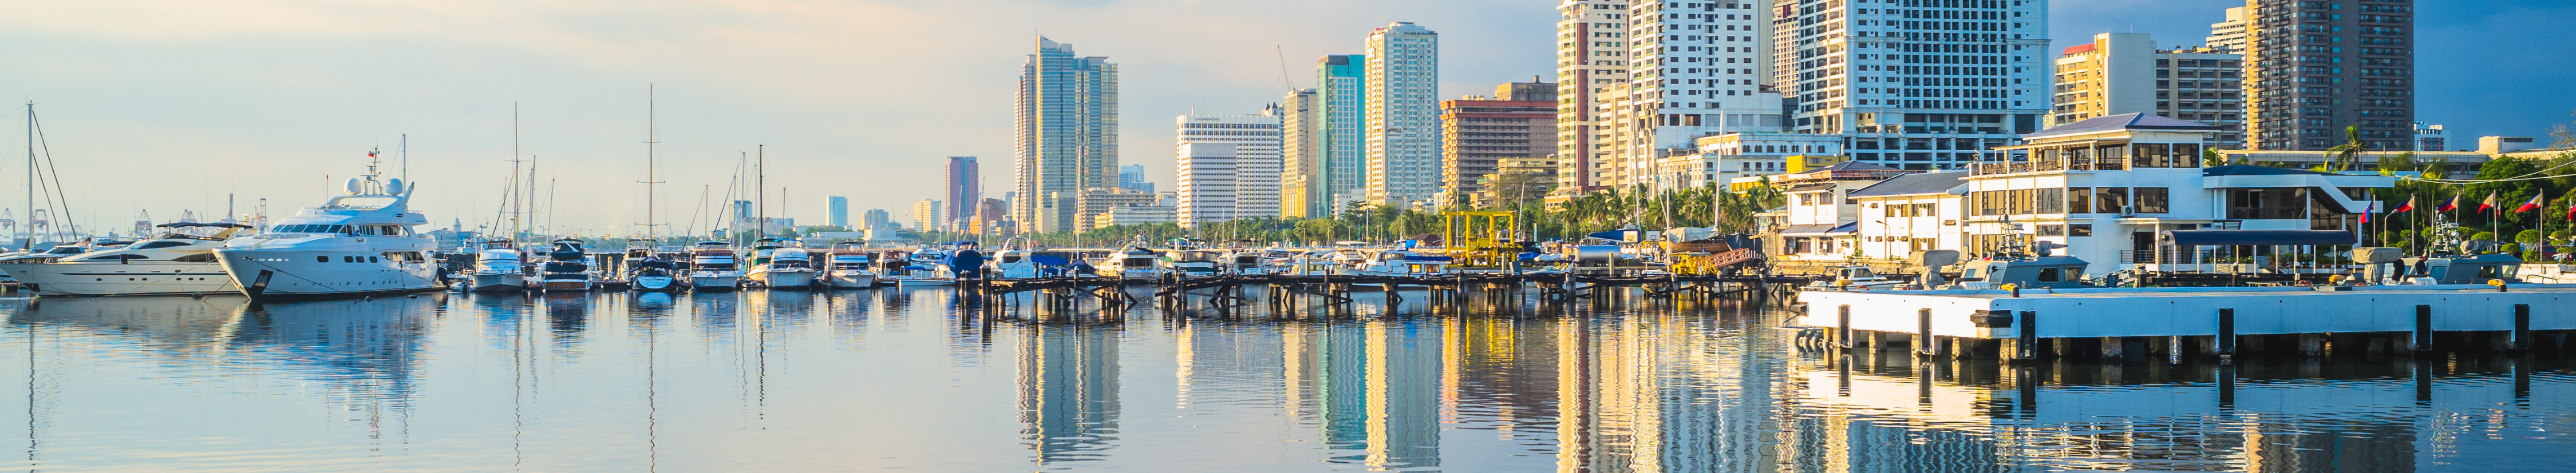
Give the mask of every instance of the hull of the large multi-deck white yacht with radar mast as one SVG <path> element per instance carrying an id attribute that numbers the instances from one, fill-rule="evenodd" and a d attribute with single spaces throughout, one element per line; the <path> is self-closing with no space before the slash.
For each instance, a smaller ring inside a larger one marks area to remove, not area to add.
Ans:
<path id="1" fill-rule="evenodd" d="M 440 290 L 430 262 L 384 260 L 384 252 L 214 249 L 224 272 L 250 298 L 332 298 Z M 379 257 L 368 262 L 368 257 Z"/>

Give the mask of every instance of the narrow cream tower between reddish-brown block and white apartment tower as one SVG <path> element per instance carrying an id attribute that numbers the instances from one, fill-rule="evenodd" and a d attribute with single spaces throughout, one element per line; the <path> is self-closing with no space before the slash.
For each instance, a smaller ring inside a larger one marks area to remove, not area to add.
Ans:
<path id="1" fill-rule="evenodd" d="M 1602 95 L 1628 82 L 1628 0 L 1564 0 L 1556 13 L 1556 190 L 1579 195 L 1605 188 L 1595 136 Z"/>

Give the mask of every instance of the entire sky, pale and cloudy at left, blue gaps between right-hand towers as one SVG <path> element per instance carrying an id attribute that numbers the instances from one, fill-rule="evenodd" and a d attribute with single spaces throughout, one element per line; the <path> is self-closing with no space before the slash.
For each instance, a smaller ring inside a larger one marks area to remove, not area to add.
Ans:
<path id="1" fill-rule="evenodd" d="M 554 183 L 569 234 L 644 221 L 644 85 L 659 85 L 662 221 L 708 219 L 737 152 L 768 144 L 770 213 L 853 221 L 940 188 L 974 154 L 987 195 L 1010 180 L 1012 87 L 1038 33 L 1121 64 L 1121 152 L 1170 188 L 1172 116 L 1257 113 L 1311 87 L 1314 59 L 1358 54 L 1370 28 L 1440 31 L 1443 95 L 1553 80 L 1548 0 L 80 0 L 0 15 L 0 93 L 36 100 L 75 216 L 126 229 L 139 211 L 222 213 L 270 198 L 314 206 L 410 134 L 417 208 L 492 221 L 520 149 Z M 2205 8 L 2202 8 L 2205 5 Z M 2061 44 L 2094 31 L 2197 44 L 2226 0 L 2061 0 Z M 2566 123 L 2571 62 L 2545 28 L 2576 5 L 2424 8 L 2421 121 L 2455 134 Z M 2499 49 L 2496 44 L 2522 44 Z M 1280 82 L 1285 57 L 1285 80 Z M 23 111 L 18 111 L 23 116 Z M 21 126 L 23 123 L 15 123 Z M 10 131 L 23 134 L 23 131 Z M 21 139 L 10 139 L 21 141 Z M 13 144 L 23 147 L 23 144 Z M 0 175 L 23 175 L 0 159 Z M 389 162 L 392 165 L 392 162 Z M 325 180 L 332 177 L 332 180 Z M 18 183 L 5 177 L 0 183 Z M 783 188 L 783 198 L 778 198 Z M 15 195 L 8 190 L 0 195 Z M 544 193 L 544 190 L 541 190 Z M 23 219 L 23 198 L 0 198 Z"/>

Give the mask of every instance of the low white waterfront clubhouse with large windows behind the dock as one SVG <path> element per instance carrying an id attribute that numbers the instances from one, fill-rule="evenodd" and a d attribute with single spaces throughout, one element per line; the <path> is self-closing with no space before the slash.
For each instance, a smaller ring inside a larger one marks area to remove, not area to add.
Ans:
<path id="1" fill-rule="evenodd" d="M 1860 254 L 1901 260 L 1927 247 L 1896 242 L 1927 236 L 1935 249 L 1960 249 L 1968 257 L 2050 242 L 2063 247 L 2058 254 L 2092 262 L 2089 275 L 2141 267 L 2215 270 L 2221 260 L 2344 252 L 2360 242 L 2357 213 L 2388 208 L 2365 195 L 2370 188 L 2396 185 L 2396 177 L 2385 175 L 2202 167 L 2202 141 L 2218 131 L 2208 123 L 2125 113 L 2027 134 L 2025 144 L 1999 149 L 2012 159 L 1981 162 L 1960 175 L 1963 185 L 1950 190 L 1960 195 L 1953 203 L 1958 208 L 1932 211 L 1937 224 L 1922 216 L 1904 224 L 1860 224 Z M 1855 201 L 1857 221 L 1888 221 L 1886 208 L 1893 203 L 1947 198 L 1860 190 Z"/>

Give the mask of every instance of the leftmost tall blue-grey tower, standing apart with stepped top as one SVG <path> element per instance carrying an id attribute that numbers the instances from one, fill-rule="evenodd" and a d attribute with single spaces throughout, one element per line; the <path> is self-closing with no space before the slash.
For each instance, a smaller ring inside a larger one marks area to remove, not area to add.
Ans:
<path id="1" fill-rule="evenodd" d="M 1038 39 L 1020 67 L 1018 108 L 1012 221 L 1028 231 L 1074 229 L 1082 190 L 1118 177 L 1118 64 Z"/>

